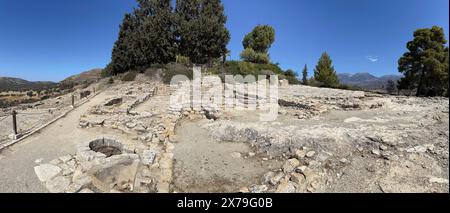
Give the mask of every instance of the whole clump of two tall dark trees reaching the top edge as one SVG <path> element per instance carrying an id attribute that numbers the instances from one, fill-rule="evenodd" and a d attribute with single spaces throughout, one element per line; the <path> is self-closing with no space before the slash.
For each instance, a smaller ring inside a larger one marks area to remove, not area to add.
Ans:
<path id="1" fill-rule="evenodd" d="M 230 34 L 220 0 L 137 0 L 114 44 L 109 74 L 174 62 L 176 56 L 204 64 L 223 57 Z"/>

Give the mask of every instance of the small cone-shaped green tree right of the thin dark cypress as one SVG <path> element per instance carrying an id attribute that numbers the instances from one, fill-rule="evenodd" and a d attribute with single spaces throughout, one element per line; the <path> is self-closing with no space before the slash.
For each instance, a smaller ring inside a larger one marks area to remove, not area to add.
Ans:
<path id="1" fill-rule="evenodd" d="M 325 87 L 339 85 L 339 79 L 334 70 L 333 61 L 326 52 L 322 54 L 314 69 L 314 80 L 321 82 Z"/>

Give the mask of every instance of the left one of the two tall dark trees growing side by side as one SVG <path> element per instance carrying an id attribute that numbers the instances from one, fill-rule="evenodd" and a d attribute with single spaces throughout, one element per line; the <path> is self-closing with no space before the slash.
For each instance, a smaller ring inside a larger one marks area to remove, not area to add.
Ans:
<path id="1" fill-rule="evenodd" d="M 138 0 L 138 8 L 126 14 L 114 44 L 111 74 L 156 63 L 174 61 L 176 36 L 170 0 Z"/>

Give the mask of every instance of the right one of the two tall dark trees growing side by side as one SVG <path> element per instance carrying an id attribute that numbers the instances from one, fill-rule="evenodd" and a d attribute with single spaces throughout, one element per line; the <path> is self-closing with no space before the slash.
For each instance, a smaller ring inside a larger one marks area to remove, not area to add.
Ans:
<path id="1" fill-rule="evenodd" d="M 175 14 L 179 54 L 198 64 L 226 56 L 230 33 L 220 0 L 177 0 Z"/>

